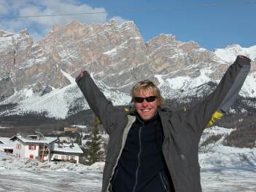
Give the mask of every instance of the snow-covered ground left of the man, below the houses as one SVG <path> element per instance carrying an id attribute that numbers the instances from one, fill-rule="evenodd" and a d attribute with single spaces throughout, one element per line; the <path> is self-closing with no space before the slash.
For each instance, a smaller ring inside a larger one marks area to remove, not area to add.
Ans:
<path id="1" fill-rule="evenodd" d="M 16 159 L 0 152 L 0 191 L 101 191 L 104 163 L 92 166 Z"/>

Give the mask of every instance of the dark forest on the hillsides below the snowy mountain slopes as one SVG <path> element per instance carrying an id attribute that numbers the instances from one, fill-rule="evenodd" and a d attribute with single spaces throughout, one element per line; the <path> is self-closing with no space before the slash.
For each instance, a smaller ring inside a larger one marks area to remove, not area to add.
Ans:
<path id="1" fill-rule="evenodd" d="M 184 99 L 187 103 L 180 103 L 179 100 L 165 100 L 164 106 L 177 111 L 181 108 L 190 108 L 201 99 L 196 97 L 187 97 Z M 256 108 L 249 103 L 256 103 L 255 98 L 238 97 L 236 104 L 233 105 L 231 112 L 216 121 L 214 125 L 225 128 L 235 129 L 225 138 L 224 145 L 235 146 L 239 148 L 256 147 Z M 13 108 L 15 105 L 1 105 L 1 110 Z M 131 108 L 131 106 L 118 106 L 119 108 Z M 63 130 L 63 127 L 71 125 L 85 125 L 87 131 L 93 129 L 95 116 L 91 110 L 83 110 L 68 116 L 66 119 L 55 119 L 46 116 L 46 113 L 26 113 L 23 116 L 0 116 L 0 125 L 9 127 L 0 129 L 0 137 L 11 137 L 15 134 L 25 133 L 34 134 L 35 130 L 40 130 L 44 135 L 53 135 L 53 133 Z M 102 127 L 99 127 L 103 131 Z M 215 138 L 216 139 L 216 138 Z"/>

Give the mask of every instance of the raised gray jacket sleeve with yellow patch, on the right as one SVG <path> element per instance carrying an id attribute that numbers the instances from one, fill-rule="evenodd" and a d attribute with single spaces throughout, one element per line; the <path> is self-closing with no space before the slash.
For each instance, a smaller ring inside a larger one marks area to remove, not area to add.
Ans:
<path id="1" fill-rule="evenodd" d="M 214 119 L 220 119 L 228 111 L 249 73 L 250 62 L 247 57 L 236 57 L 236 61 L 225 72 L 217 89 L 187 111 L 187 122 L 190 127 L 202 132 Z"/>

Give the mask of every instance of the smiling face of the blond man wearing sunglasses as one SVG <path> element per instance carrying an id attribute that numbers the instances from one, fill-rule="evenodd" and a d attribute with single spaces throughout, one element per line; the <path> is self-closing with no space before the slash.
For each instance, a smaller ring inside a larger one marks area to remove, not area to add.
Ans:
<path id="1" fill-rule="evenodd" d="M 156 96 L 156 95 L 154 95 L 152 91 L 147 89 L 146 90 L 141 89 L 140 92 L 138 92 L 135 95 L 135 97 L 150 97 L 150 96 Z M 160 103 L 158 101 L 158 98 L 156 98 L 152 102 L 147 102 L 147 100 L 143 100 L 142 103 L 136 103 L 136 101 L 133 101 L 133 105 L 137 113 L 139 113 L 139 116 L 143 120 L 148 120 L 148 119 L 151 119 L 152 116 L 155 116 L 155 113 L 158 110 L 159 104 Z"/>

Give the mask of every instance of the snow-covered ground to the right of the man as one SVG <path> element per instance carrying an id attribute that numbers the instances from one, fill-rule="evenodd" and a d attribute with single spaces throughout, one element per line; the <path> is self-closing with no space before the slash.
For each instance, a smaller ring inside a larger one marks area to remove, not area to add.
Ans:
<path id="1" fill-rule="evenodd" d="M 256 191 L 256 148 L 216 145 L 199 162 L 203 191 Z"/>

